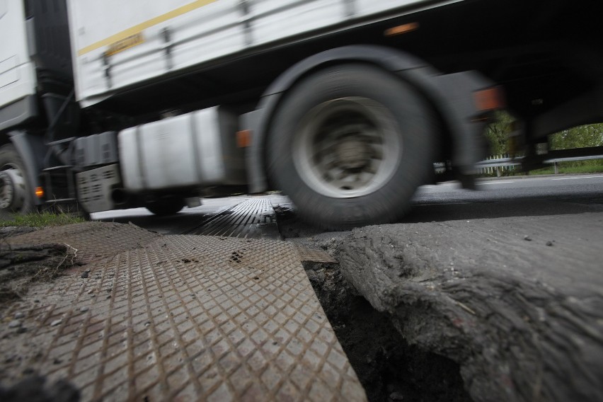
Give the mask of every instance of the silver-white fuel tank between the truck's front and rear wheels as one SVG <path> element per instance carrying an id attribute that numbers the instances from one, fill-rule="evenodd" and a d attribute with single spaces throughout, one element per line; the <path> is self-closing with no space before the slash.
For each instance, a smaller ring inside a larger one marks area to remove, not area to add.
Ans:
<path id="1" fill-rule="evenodd" d="M 246 184 L 238 116 L 215 106 L 118 134 L 125 188 L 132 192 Z"/>

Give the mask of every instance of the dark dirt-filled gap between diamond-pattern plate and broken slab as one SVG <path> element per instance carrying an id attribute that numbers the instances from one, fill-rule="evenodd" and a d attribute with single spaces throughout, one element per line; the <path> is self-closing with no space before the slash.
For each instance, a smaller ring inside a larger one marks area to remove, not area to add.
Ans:
<path id="1" fill-rule="evenodd" d="M 350 232 L 326 232 L 297 217 L 294 206 L 275 206 L 285 241 L 335 255 Z M 369 401 L 465 402 L 459 364 L 410 345 L 389 314 L 375 310 L 341 274 L 338 263 L 304 263 L 314 291 L 354 367 Z"/>

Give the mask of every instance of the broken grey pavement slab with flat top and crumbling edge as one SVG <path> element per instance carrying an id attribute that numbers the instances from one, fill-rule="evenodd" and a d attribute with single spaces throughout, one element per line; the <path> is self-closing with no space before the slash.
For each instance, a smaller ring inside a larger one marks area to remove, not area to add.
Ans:
<path id="1" fill-rule="evenodd" d="M 343 276 L 475 401 L 603 399 L 603 214 L 367 226 Z"/>

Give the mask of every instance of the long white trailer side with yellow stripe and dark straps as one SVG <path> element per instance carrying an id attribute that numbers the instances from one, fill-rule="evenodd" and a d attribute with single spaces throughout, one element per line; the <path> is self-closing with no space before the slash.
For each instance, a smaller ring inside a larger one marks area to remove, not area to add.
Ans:
<path id="1" fill-rule="evenodd" d="M 434 6 L 427 0 L 69 0 L 76 93 L 84 106 L 93 105 L 120 88 L 253 47 L 384 11 Z"/>

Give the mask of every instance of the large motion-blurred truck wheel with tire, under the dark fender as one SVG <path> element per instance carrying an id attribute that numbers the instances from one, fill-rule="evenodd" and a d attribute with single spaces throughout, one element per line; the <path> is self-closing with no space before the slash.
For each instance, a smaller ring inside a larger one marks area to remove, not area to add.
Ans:
<path id="1" fill-rule="evenodd" d="M 432 170 L 436 119 L 406 82 L 345 64 L 307 77 L 272 120 L 268 175 L 325 229 L 394 222 Z"/>

